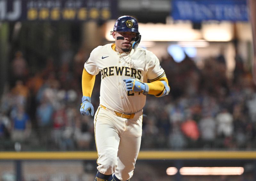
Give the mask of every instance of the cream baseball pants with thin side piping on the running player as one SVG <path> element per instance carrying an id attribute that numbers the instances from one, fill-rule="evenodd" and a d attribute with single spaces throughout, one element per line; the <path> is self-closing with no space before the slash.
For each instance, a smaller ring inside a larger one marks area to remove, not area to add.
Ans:
<path id="1" fill-rule="evenodd" d="M 130 179 L 140 151 L 142 111 L 134 118 L 126 119 L 99 106 L 94 116 L 94 133 L 99 172 L 115 173 L 120 180 Z"/>

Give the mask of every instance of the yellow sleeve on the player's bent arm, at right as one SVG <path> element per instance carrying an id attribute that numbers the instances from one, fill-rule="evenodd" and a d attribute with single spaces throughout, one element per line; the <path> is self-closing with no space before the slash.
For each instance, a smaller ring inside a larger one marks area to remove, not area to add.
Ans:
<path id="1" fill-rule="evenodd" d="M 164 84 L 161 81 L 165 81 L 168 85 L 168 80 L 166 77 L 161 77 L 161 78 L 157 79 L 156 81 L 147 83 L 148 88 L 149 88 L 148 94 L 160 95 L 164 90 Z"/>

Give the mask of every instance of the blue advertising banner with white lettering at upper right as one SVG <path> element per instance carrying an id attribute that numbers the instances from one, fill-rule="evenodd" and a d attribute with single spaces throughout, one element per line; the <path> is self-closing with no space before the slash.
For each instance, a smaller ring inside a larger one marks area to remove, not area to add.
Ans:
<path id="1" fill-rule="evenodd" d="M 246 0 L 172 0 L 174 20 L 248 21 Z"/>

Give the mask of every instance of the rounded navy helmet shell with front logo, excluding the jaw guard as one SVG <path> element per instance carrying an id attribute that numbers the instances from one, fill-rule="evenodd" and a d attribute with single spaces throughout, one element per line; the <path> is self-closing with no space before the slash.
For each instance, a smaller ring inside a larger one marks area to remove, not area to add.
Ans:
<path id="1" fill-rule="evenodd" d="M 139 33 L 138 22 L 131 16 L 121 16 L 116 20 L 114 31 Z"/>

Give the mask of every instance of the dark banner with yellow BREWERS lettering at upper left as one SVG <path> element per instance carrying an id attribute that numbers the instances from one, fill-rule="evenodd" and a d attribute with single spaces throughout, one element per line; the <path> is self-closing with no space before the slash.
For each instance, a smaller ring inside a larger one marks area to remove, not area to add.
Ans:
<path id="1" fill-rule="evenodd" d="M 0 0 L 0 21 L 115 19 L 116 4 L 116 0 Z"/>

